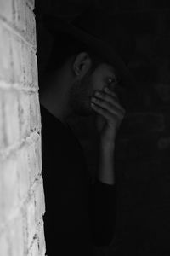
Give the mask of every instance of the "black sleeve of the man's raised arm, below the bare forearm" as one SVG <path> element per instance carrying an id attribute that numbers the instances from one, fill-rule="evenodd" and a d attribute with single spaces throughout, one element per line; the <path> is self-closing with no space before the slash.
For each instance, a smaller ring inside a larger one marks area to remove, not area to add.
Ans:
<path id="1" fill-rule="evenodd" d="M 89 216 L 94 246 L 108 246 L 116 224 L 116 185 L 96 179 L 89 190 Z"/>

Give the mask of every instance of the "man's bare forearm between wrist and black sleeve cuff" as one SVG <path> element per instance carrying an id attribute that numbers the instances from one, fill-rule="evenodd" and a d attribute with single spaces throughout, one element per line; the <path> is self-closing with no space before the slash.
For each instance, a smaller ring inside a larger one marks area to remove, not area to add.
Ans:
<path id="1" fill-rule="evenodd" d="M 114 170 L 114 151 L 115 146 L 100 147 L 99 152 L 99 166 L 97 177 L 100 182 L 106 184 L 115 184 L 115 170 Z"/>

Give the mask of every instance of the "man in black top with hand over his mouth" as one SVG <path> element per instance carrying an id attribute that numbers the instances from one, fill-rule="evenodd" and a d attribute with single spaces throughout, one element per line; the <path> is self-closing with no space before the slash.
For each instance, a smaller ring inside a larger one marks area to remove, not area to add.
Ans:
<path id="1" fill-rule="evenodd" d="M 63 27 L 55 32 L 40 80 L 45 238 L 48 256 L 88 256 L 93 245 L 108 246 L 114 232 L 115 138 L 125 114 L 114 90 L 121 71 L 94 49 L 93 40 L 84 40 L 84 35 L 89 39 L 86 33 L 79 31 L 77 37 L 78 30 Z M 67 124 L 71 113 L 92 114 L 96 120 L 99 164 L 94 183 Z"/>

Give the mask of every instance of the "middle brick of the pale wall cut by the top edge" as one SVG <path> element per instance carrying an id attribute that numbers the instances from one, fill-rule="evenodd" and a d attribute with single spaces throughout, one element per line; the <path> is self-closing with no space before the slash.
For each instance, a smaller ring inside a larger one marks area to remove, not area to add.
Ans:
<path id="1" fill-rule="evenodd" d="M 26 1 L 14 1 L 14 26 L 21 32 L 26 32 Z"/>

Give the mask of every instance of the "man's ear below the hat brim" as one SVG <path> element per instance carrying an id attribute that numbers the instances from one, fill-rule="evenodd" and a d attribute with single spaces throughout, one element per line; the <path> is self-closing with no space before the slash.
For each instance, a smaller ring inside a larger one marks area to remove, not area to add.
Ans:
<path id="1" fill-rule="evenodd" d="M 82 78 L 85 74 L 88 73 L 91 67 L 92 61 L 86 52 L 81 52 L 77 55 L 74 63 L 73 63 L 73 71 L 74 73 Z"/>

